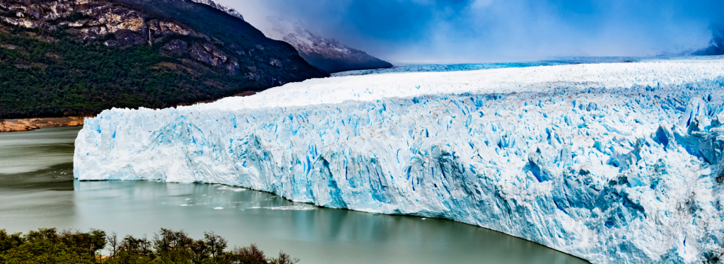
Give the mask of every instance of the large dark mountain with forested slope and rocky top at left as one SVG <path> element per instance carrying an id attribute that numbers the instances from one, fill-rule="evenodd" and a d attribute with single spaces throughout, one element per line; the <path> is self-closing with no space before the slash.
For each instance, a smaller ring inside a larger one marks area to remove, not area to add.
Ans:
<path id="1" fill-rule="evenodd" d="M 190 0 L 0 0 L 0 115 L 172 107 L 328 76 Z"/>

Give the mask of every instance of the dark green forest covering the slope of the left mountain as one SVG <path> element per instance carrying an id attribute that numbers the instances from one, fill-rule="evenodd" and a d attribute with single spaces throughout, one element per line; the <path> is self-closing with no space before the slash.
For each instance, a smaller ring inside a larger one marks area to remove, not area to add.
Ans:
<path id="1" fill-rule="evenodd" d="M 105 38 L 112 39 L 108 34 Z M 190 40 L 193 41 L 193 40 Z M 166 57 L 166 42 L 127 48 L 79 41 L 67 30 L 0 26 L 1 117 L 93 115 L 111 107 L 172 107 L 266 87 L 190 60 Z M 171 65 L 172 67 L 168 67 Z M 192 64 L 194 65 L 194 64 Z"/>

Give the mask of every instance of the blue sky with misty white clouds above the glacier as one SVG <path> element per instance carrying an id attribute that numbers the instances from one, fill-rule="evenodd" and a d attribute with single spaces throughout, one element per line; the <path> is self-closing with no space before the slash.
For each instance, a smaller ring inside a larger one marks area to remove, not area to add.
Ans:
<path id="1" fill-rule="evenodd" d="M 702 49 L 724 0 L 216 0 L 262 31 L 266 17 L 390 62 L 512 62 Z"/>

